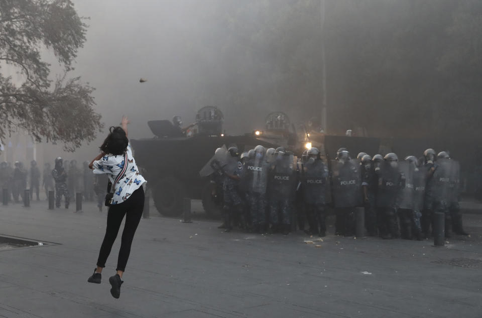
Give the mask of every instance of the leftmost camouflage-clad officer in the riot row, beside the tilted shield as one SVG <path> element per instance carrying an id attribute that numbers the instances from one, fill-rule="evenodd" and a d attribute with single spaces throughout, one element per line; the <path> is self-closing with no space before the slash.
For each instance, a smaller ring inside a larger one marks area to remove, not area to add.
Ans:
<path id="1" fill-rule="evenodd" d="M 243 164 L 239 161 L 239 150 L 236 147 L 229 147 L 227 150 L 230 157 L 223 167 L 223 212 L 225 232 L 232 230 L 234 215 L 239 220 L 241 227 L 245 228 L 243 213 L 243 200 L 239 195 L 238 185 L 243 177 Z"/>

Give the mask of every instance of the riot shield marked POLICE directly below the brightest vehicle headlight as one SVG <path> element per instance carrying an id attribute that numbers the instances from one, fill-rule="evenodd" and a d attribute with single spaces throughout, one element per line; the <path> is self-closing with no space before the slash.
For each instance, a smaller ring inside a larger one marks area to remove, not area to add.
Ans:
<path id="1" fill-rule="evenodd" d="M 329 189 L 328 167 L 322 160 L 306 163 L 301 174 L 303 197 L 306 203 L 327 203 L 326 188 Z"/>

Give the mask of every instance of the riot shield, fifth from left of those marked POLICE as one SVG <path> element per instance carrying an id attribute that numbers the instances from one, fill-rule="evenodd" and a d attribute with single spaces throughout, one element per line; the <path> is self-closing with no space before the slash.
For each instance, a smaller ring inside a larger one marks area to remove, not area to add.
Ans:
<path id="1" fill-rule="evenodd" d="M 377 206 L 398 206 L 403 188 L 400 169 L 393 168 L 390 162 L 384 161 L 378 172 Z"/>

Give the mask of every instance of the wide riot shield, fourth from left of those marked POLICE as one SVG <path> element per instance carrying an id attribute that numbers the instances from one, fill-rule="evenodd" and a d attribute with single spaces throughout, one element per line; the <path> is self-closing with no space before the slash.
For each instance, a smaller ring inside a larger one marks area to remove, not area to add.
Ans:
<path id="1" fill-rule="evenodd" d="M 362 204 L 361 175 L 357 160 L 341 163 L 331 161 L 331 189 L 335 207 L 354 207 Z"/>

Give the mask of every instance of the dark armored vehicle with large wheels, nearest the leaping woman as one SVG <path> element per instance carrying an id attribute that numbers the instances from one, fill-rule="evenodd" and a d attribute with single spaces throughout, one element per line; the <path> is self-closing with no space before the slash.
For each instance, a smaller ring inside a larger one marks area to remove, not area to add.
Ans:
<path id="1" fill-rule="evenodd" d="M 213 156 L 214 151 L 226 145 L 236 145 L 240 151 L 249 150 L 256 145 L 266 148 L 278 144 L 261 140 L 249 133 L 241 136 L 228 136 L 222 133 L 223 114 L 212 106 L 199 110 L 196 122 L 183 129 L 175 127 L 168 120 L 149 121 L 148 125 L 154 138 L 131 140 L 136 162 L 143 169 L 148 180 L 154 204 L 160 214 L 178 216 L 182 211 L 184 197 L 201 199 L 208 215 L 220 213 L 219 206 L 213 202 L 213 184 L 199 171 Z M 182 136 L 183 137 L 174 137 Z"/>

